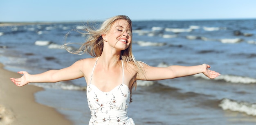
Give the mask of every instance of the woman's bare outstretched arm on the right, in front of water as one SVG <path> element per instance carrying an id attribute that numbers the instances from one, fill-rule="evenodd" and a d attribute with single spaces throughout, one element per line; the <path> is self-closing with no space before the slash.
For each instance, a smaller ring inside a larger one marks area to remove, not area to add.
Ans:
<path id="1" fill-rule="evenodd" d="M 152 67 L 143 64 L 145 76 L 143 73 L 138 73 L 138 80 L 162 80 L 173 79 L 177 77 L 185 77 L 189 75 L 195 75 L 198 73 L 204 73 L 210 79 L 214 79 L 220 75 L 220 73 L 210 70 L 210 66 L 202 64 L 198 66 L 168 66 L 168 67 Z M 146 77 L 146 78 L 145 78 Z"/>

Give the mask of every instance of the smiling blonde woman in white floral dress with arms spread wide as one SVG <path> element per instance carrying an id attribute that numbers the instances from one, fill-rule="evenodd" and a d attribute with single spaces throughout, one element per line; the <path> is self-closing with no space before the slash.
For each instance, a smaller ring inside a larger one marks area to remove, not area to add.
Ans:
<path id="1" fill-rule="evenodd" d="M 132 55 L 132 22 L 129 17 L 117 15 L 109 18 L 98 30 L 85 29 L 89 35 L 78 51 L 70 53 L 89 53 L 94 58 L 81 59 L 72 66 L 60 70 L 49 70 L 41 74 L 28 72 L 20 78 L 10 78 L 17 86 L 31 82 L 58 82 L 85 78 L 87 99 L 91 110 L 89 124 L 135 125 L 128 117 L 131 90 L 136 80 L 173 79 L 204 73 L 210 79 L 220 74 L 209 70 L 210 66 L 169 66 L 152 67 L 136 61 Z"/>

